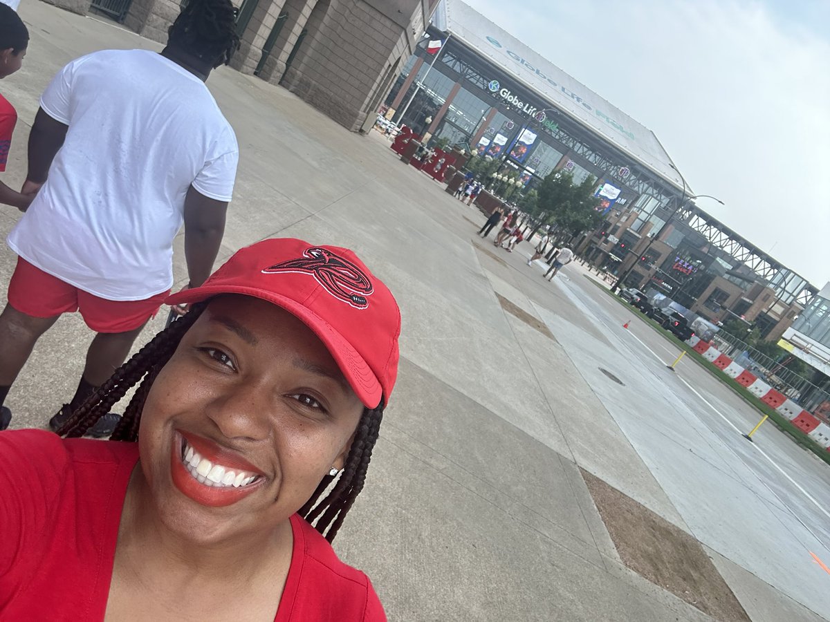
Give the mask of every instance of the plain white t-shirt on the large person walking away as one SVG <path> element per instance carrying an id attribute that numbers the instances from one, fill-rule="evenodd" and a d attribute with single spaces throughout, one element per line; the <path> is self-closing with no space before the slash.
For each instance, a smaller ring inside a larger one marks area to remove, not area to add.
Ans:
<path id="1" fill-rule="evenodd" d="M 230 201 L 237 173 L 237 138 L 207 86 L 155 52 L 105 50 L 58 72 L 41 108 L 69 130 L 8 245 L 100 298 L 169 289 L 188 188 Z"/>

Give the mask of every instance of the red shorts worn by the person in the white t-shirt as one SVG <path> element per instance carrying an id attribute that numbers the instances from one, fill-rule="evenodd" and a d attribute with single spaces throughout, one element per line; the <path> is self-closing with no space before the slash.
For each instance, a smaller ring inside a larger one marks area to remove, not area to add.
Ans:
<path id="1" fill-rule="evenodd" d="M 17 268 L 8 284 L 8 304 L 33 318 L 53 318 L 81 310 L 96 333 L 127 333 L 154 318 L 169 292 L 146 300 L 105 300 L 65 283 L 17 257 Z"/>

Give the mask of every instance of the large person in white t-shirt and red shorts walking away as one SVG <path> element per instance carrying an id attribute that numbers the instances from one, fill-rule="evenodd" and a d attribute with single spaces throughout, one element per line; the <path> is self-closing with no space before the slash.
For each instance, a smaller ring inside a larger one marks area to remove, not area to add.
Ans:
<path id="1" fill-rule="evenodd" d="M 97 334 L 52 429 L 81 406 L 158 312 L 182 225 L 188 287 L 210 275 L 239 153 L 205 80 L 239 47 L 235 20 L 230 0 L 190 0 L 160 54 L 94 52 L 46 87 L 22 189 L 37 196 L 8 236 L 18 260 L 0 314 L 0 406 L 37 338 L 76 310 Z M 0 430 L 10 419 L 2 406 Z"/>

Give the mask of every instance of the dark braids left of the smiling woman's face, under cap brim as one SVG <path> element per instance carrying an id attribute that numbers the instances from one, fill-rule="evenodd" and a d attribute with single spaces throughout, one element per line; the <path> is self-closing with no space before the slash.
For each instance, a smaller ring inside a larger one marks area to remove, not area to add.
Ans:
<path id="1" fill-rule="evenodd" d="M 154 367 L 160 368 L 168 362 L 184 333 L 187 333 L 188 328 L 198 319 L 203 309 L 203 304 L 193 305 L 193 309 L 187 315 L 157 334 L 129 361 L 116 369 L 112 377 L 101 385 L 78 410 L 72 413 L 61 429 L 57 430 L 57 433 L 66 438 L 85 435 L 86 431 L 95 425 L 95 422 L 102 416 L 110 412 L 110 409 L 126 395 L 129 389 L 138 384 L 142 377 Z M 142 388 L 144 384 L 142 383 Z M 152 379 L 149 379 L 149 384 L 152 384 Z M 149 392 L 149 384 L 145 391 L 139 391 L 130 401 L 129 406 L 133 406 L 133 408 L 128 406 L 128 412 L 125 412 L 125 416 L 116 426 L 113 432 L 114 440 L 134 440 L 134 436 L 129 438 L 129 435 L 125 435 L 125 430 L 138 430 L 138 422 L 135 420 L 144 407 L 144 399 Z M 139 398 L 139 401 L 136 400 L 136 397 Z"/>

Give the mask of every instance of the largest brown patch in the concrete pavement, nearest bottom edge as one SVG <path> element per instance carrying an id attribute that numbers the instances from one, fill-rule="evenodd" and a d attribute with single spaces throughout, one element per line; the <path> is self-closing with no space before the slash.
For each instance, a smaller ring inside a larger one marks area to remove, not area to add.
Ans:
<path id="1" fill-rule="evenodd" d="M 579 469 L 623 563 L 722 622 L 749 616 L 694 537 Z"/>

